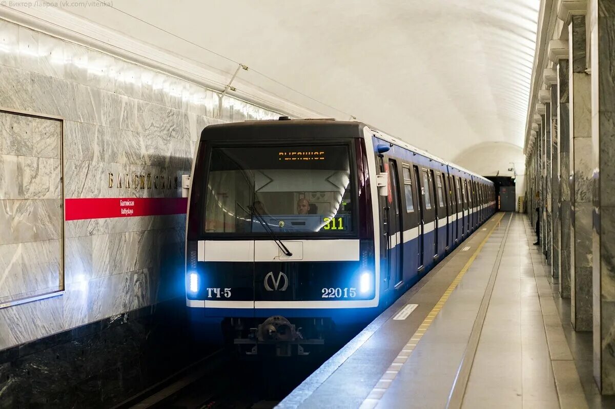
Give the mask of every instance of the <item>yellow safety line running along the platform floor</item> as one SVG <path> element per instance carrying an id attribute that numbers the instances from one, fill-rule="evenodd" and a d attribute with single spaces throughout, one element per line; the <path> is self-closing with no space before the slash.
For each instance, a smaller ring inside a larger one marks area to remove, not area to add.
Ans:
<path id="1" fill-rule="evenodd" d="M 370 409 L 378 405 L 378 402 L 383 397 L 384 392 L 389 389 L 389 386 L 393 382 L 393 379 L 395 379 L 395 376 L 397 376 L 397 374 L 399 373 L 399 370 L 402 368 L 402 365 L 408 360 L 408 358 L 412 354 L 412 351 L 415 350 L 416 344 L 418 344 L 421 338 L 423 338 L 423 335 L 427 331 L 427 328 L 429 328 L 429 325 L 431 325 L 431 323 L 434 321 L 435 317 L 438 315 L 438 312 L 440 312 L 440 310 L 444 306 L 444 303 L 446 303 L 446 300 L 448 300 L 448 297 L 450 297 L 451 293 L 453 293 L 453 290 L 457 287 L 463 276 L 466 274 L 467 270 L 470 268 L 472 263 L 474 263 L 474 259 L 478 256 L 478 253 L 480 253 L 480 250 L 483 248 L 483 245 L 485 245 L 485 243 L 491 236 L 491 233 L 493 233 L 496 227 L 498 227 L 500 221 L 502 221 L 502 218 L 504 218 L 504 213 L 501 213 L 499 220 L 496 221 L 495 225 L 493 226 L 493 228 L 491 228 L 490 232 L 488 232 L 485 239 L 478 245 L 474 254 L 470 256 L 466 265 L 463 266 L 461 271 L 459 271 L 459 274 L 457 274 L 457 277 L 455 277 L 451 285 L 448 286 L 442 297 L 440 297 L 440 300 L 435 303 L 434 308 L 431 310 L 431 312 L 429 312 L 429 314 L 427 314 L 427 317 L 423 320 L 423 323 L 419 325 L 418 330 L 416 330 L 416 332 L 411 336 L 410 340 L 408 340 L 408 343 L 405 344 L 402 351 L 399 352 L 399 355 L 397 355 L 397 357 L 393 360 L 391 366 L 389 366 L 389 368 L 384 372 L 384 375 L 380 378 L 378 383 L 376 383 L 376 386 L 371 389 L 370 394 L 367 395 L 367 398 L 365 398 L 365 400 L 363 400 L 363 403 L 360 406 L 361 409 Z"/>

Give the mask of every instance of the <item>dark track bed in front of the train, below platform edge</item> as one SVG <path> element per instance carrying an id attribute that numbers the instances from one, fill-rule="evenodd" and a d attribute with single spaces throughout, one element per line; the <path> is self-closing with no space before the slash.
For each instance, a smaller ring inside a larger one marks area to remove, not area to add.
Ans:
<path id="1" fill-rule="evenodd" d="M 269 409 L 333 354 L 245 359 L 220 349 L 114 409 Z"/>

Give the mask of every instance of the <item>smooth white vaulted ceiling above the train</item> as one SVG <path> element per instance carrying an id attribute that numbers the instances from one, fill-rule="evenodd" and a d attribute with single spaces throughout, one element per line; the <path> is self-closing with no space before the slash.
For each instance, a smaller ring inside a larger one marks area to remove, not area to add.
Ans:
<path id="1" fill-rule="evenodd" d="M 244 63 L 250 71 L 240 71 L 237 84 L 326 116 L 355 116 L 459 161 L 490 143 L 522 148 L 538 7 L 539 0 L 113 0 L 66 10 L 228 77 Z"/>

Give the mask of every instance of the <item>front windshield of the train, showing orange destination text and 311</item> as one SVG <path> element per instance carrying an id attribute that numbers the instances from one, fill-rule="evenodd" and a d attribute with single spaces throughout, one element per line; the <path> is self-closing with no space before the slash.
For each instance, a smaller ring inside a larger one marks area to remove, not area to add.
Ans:
<path id="1" fill-rule="evenodd" d="M 212 148 L 205 234 L 335 235 L 353 228 L 349 148 Z"/>

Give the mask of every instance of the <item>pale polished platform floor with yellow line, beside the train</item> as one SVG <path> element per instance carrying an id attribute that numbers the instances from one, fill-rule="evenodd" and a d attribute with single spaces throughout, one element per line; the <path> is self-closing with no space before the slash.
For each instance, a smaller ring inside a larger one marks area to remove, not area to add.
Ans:
<path id="1" fill-rule="evenodd" d="M 534 237 L 497 213 L 278 407 L 600 407 Z"/>

